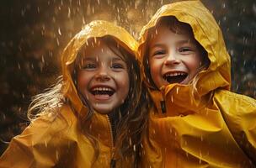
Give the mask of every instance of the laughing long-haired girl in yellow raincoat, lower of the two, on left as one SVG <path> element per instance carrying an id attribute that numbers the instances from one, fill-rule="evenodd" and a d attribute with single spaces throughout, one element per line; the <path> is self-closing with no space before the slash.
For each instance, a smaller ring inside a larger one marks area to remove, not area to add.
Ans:
<path id="1" fill-rule="evenodd" d="M 114 24 L 86 25 L 61 55 L 61 81 L 35 97 L 34 118 L 0 167 L 135 167 L 147 117 L 136 47 Z"/>

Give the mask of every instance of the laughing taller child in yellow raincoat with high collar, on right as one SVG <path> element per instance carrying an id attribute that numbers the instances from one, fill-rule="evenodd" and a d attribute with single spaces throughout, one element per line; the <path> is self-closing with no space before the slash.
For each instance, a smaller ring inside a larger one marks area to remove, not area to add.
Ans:
<path id="1" fill-rule="evenodd" d="M 142 167 L 255 167 L 256 102 L 230 92 L 230 56 L 200 1 L 164 5 L 138 53 L 153 106 Z"/>

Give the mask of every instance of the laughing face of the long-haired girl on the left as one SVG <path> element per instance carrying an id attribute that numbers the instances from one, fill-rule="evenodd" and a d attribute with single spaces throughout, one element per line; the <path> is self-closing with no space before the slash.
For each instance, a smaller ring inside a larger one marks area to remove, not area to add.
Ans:
<path id="1" fill-rule="evenodd" d="M 117 54 L 115 54 L 117 53 Z M 99 113 L 118 108 L 129 92 L 129 75 L 125 58 L 103 41 L 91 43 L 83 50 L 77 71 L 77 89 Z"/>

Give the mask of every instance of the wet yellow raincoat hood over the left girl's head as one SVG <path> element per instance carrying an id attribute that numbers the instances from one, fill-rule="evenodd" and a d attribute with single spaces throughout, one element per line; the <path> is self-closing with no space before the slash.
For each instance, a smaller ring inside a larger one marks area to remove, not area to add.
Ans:
<path id="1" fill-rule="evenodd" d="M 125 29 L 122 29 L 115 24 L 111 24 L 107 21 L 96 20 L 87 24 L 75 37 L 69 42 L 61 55 L 61 67 L 63 74 L 64 87 L 62 88 L 65 97 L 72 102 L 73 108 L 82 117 L 86 115 L 87 110 L 83 105 L 83 102 L 77 95 L 77 88 L 72 81 L 72 73 L 74 71 L 73 64 L 77 58 L 77 53 L 91 38 L 100 38 L 104 36 L 111 36 L 115 41 L 135 55 L 137 49 L 137 42 L 131 34 Z"/>

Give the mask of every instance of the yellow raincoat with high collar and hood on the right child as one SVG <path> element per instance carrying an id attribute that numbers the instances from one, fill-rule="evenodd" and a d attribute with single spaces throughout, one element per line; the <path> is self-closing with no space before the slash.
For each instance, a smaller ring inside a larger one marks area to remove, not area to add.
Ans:
<path id="1" fill-rule="evenodd" d="M 221 29 L 200 1 L 164 5 L 141 30 L 138 53 L 146 55 L 148 29 L 174 16 L 193 29 L 211 65 L 192 85 L 169 84 L 154 90 L 154 107 L 143 137 L 142 167 L 254 167 L 256 102 L 230 92 L 230 56 Z"/>

